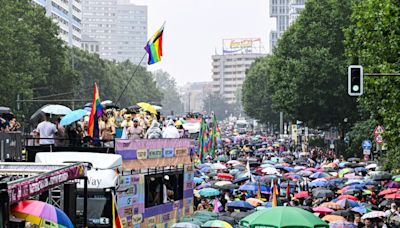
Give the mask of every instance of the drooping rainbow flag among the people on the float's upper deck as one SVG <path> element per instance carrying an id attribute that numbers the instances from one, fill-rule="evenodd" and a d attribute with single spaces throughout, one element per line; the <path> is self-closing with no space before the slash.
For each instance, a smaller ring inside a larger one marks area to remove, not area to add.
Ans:
<path id="1" fill-rule="evenodd" d="M 88 135 L 93 139 L 99 138 L 99 121 L 98 119 L 103 115 L 103 107 L 101 106 L 99 89 L 97 84 L 94 83 L 92 110 L 89 116 Z"/>

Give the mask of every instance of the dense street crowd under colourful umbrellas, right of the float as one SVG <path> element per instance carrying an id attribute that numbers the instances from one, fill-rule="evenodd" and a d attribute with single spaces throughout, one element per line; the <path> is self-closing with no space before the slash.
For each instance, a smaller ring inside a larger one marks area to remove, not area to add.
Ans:
<path id="1" fill-rule="evenodd" d="M 214 212 L 235 227 L 273 207 L 276 185 L 279 206 L 307 210 L 331 227 L 400 227 L 400 176 L 376 162 L 345 160 L 329 149 L 290 151 L 288 141 L 273 137 L 234 137 L 197 164 L 195 211 Z M 339 222 L 347 225 L 334 226 Z"/>

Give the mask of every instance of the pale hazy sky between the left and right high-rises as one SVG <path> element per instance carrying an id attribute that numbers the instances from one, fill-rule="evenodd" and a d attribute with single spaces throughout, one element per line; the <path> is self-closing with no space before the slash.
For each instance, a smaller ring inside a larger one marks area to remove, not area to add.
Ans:
<path id="1" fill-rule="evenodd" d="M 163 59 L 150 66 L 171 74 L 179 85 L 211 81 L 211 55 L 221 53 L 222 39 L 261 38 L 269 50 L 268 0 L 131 0 L 148 6 L 148 33 L 166 21 Z"/>

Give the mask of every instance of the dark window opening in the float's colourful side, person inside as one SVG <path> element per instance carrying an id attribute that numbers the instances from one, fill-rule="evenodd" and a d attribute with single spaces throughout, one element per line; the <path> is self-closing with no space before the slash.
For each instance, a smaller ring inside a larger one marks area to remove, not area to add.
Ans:
<path id="1" fill-rule="evenodd" d="M 183 199 L 183 171 L 145 175 L 145 207 Z"/>

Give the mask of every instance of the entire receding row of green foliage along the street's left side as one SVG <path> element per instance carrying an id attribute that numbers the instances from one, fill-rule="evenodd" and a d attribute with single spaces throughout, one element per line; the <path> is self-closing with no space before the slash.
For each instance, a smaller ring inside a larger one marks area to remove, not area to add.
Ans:
<path id="1" fill-rule="evenodd" d="M 97 82 L 103 100 L 116 100 L 136 65 L 102 60 L 58 38 L 58 26 L 42 7 L 29 0 L 2 1 L 0 7 L 0 105 L 16 110 L 17 94 L 29 100 L 79 99 L 90 101 Z M 54 94 L 60 94 L 55 96 Z M 159 102 L 161 92 L 153 75 L 139 67 L 119 105 Z M 45 102 L 48 103 L 48 102 Z M 17 114 L 29 117 L 45 103 L 23 103 Z M 52 102 L 60 103 L 60 102 Z M 85 103 L 75 103 L 79 105 Z M 72 102 L 64 102 L 71 106 Z"/>

